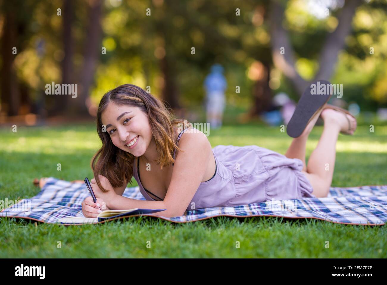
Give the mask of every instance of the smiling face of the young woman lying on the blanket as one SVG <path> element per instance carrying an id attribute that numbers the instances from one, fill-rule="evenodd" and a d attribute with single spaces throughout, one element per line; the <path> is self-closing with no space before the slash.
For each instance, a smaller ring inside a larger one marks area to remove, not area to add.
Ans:
<path id="1" fill-rule="evenodd" d="M 151 143 L 151 126 L 147 115 L 139 107 L 110 102 L 102 112 L 101 120 L 113 144 L 136 157 L 144 154 Z M 127 144 L 134 138 L 137 138 L 137 141 L 129 148 Z"/>

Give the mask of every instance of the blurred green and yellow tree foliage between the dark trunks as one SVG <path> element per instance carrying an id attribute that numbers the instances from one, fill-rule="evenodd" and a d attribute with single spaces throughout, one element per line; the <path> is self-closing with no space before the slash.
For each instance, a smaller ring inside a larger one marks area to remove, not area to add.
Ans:
<path id="1" fill-rule="evenodd" d="M 348 1 L 348 0 L 347 0 Z M 3 11 L 13 9 L 12 1 L 3 2 Z M 159 3 L 162 3 L 161 5 Z M 152 94 L 161 97 L 165 84 L 162 59 L 176 81 L 179 102 L 190 108 L 202 104 L 203 80 L 214 62 L 225 67 L 228 81 L 228 103 L 239 107 L 251 104 L 254 81 L 247 76 L 254 61 L 272 66 L 269 1 L 169 1 L 151 0 L 103 1 L 101 26 L 103 35 L 98 49 L 98 65 L 90 90 L 92 104 L 122 83 L 143 88 L 151 86 Z M 284 26 L 289 31 L 296 52 L 296 69 L 310 79 L 319 68 L 322 46 L 337 27 L 341 9 L 331 9 L 329 16 L 318 19 L 305 1 L 283 1 L 286 5 Z M 21 84 L 26 85 L 33 101 L 39 100 L 46 83 L 60 82 L 64 57 L 63 16 L 57 9 L 61 1 L 29 2 L 17 7 L 17 17 L 26 30 L 18 35 L 20 47 L 15 68 Z M 384 1 L 363 3 L 353 17 L 353 32 L 346 39 L 332 83 L 345 83 L 346 94 L 361 108 L 375 111 L 387 107 L 387 6 Z M 147 9 L 151 15 L 147 16 Z M 236 16 L 240 9 L 240 16 Z M 74 2 L 72 36 L 74 38 L 74 78 L 82 75 L 88 7 Z M 38 41 L 45 44 L 39 55 Z M 106 48 L 106 54 L 101 48 Z M 191 48 L 195 47 L 195 55 Z M 370 54 L 370 48 L 374 54 Z M 295 97 L 291 85 L 280 76 L 279 89 Z M 235 93 L 240 86 L 241 93 Z M 349 95 L 350 93 L 350 95 Z M 45 97 L 46 107 L 53 104 Z"/>

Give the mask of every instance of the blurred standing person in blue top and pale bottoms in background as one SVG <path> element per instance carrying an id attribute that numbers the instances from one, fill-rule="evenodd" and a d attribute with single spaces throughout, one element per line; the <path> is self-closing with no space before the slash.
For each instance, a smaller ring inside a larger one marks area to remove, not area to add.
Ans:
<path id="1" fill-rule="evenodd" d="M 226 105 L 224 91 L 227 89 L 226 78 L 223 76 L 223 67 L 220 64 L 211 66 L 211 73 L 204 80 L 204 88 L 206 91 L 207 122 L 209 122 L 211 128 L 220 128 Z"/>

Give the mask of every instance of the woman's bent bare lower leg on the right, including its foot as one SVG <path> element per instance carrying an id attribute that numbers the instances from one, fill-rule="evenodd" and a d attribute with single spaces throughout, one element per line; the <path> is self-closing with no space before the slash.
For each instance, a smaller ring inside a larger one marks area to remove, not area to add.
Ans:
<path id="1" fill-rule="evenodd" d="M 324 109 L 321 117 L 324 119 L 324 130 L 319 143 L 309 157 L 307 172 L 303 173 L 312 185 L 312 194 L 316 197 L 327 197 L 332 183 L 335 160 L 336 142 L 341 130 L 348 128 L 347 116 L 351 126 L 356 126 L 353 117 L 341 112 Z"/>

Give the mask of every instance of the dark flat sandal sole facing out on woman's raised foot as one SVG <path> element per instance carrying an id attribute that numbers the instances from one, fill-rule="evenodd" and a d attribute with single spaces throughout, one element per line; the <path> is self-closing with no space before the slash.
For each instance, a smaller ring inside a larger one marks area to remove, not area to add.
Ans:
<path id="1" fill-rule="evenodd" d="M 305 89 L 300 100 L 298 100 L 296 109 L 288 123 L 288 126 L 286 126 L 286 133 L 288 133 L 289 136 L 292 138 L 300 136 L 307 127 L 308 123 L 328 102 L 332 94 L 320 94 L 320 86 L 322 85 L 325 85 L 325 92 L 322 93 L 330 93 L 327 88 L 328 84 L 330 84 L 329 81 L 318 80 L 311 83 L 310 86 Z M 317 94 L 312 94 L 312 89 L 314 89 L 313 93 Z"/>

